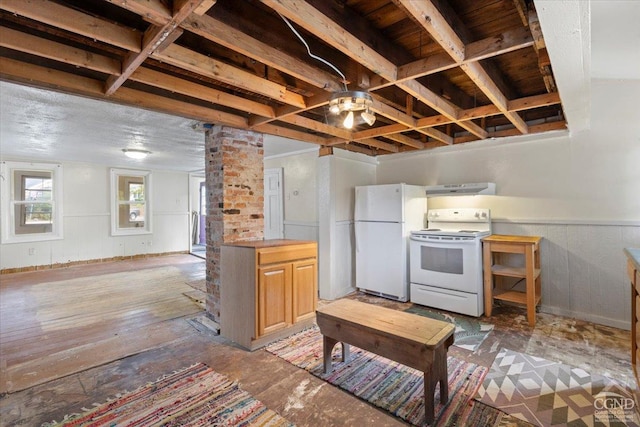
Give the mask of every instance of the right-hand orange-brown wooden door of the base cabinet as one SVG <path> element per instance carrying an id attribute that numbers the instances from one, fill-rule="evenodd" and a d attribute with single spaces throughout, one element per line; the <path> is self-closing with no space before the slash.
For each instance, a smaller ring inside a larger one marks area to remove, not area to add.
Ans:
<path id="1" fill-rule="evenodd" d="M 318 263 L 315 259 L 293 263 L 293 323 L 315 315 L 317 281 Z"/>

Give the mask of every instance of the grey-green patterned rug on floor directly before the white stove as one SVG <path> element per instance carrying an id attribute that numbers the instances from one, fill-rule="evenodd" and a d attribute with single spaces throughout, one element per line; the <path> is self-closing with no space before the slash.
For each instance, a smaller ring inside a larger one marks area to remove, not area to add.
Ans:
<path id="1" fill-rule="evenodd" d="M 429 317 L 431 319 L 453 323 L 456 325 L 456 331 L 454 332 L 455 341 L 453 345 L 471 351 L 476 351 L 489 332 L 493 331 L 493 325 L 478 322 L 478 320 L 472 317 L 440 313 L 439 311 L 430 310 L 418 305 L 409 307 L 405 311 L 407 313 L 419 314 L 420 316 Z"/>

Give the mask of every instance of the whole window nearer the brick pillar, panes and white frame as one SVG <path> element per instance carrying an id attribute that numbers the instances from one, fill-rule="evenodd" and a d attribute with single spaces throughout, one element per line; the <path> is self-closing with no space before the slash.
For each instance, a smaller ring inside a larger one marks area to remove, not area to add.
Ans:
<path id="1" fill-rule="evenodd" d="M 111 234 L 151 233 L 151 172 L 111 169 Z"/>

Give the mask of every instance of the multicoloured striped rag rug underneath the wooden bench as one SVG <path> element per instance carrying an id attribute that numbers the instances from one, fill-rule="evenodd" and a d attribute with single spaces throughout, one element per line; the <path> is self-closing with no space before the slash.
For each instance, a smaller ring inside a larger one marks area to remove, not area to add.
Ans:
<path id="1" fill-rule="evenodd" d="M 322 335 L 317 327 L 273 343 L 266 350 L 411 424 L 425 425 L 424 380 L 420 371 L 354 346 L 351 346 L 349 361 L 342 363 L 341 348 L 337 345 L 333 352 L 333 371 L 324 374 Z M 469 416 L 472 409 L 469 401 L 487 368 L 454 357 L 448 358 L 447 366 L 449 401 L 440 404 L 440 391 L 436 387 L 435 425 L 469 425 L 462 417 Z M 492 412 L 495 415 L 497 411 Z"/>

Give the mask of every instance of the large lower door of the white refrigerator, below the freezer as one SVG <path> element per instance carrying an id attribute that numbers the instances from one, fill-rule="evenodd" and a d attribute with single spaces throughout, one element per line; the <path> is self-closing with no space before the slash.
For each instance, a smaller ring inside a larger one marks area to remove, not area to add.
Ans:
<path id="1" fill-rule="evenodd" d="M 356 222 L 356 286 L 407 301 L 407 240 L 401 223 Z"/>

